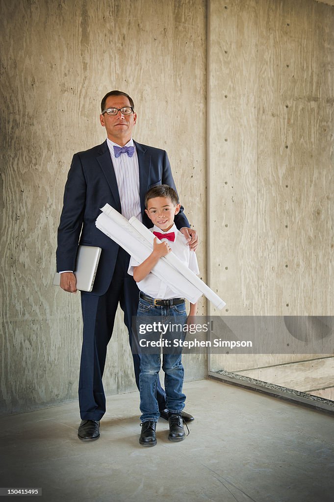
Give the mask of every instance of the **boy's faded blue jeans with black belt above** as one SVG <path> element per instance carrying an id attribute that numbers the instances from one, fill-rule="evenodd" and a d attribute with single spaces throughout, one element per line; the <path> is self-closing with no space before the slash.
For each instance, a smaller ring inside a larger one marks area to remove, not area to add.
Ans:
<path id="1" fill-rule="evenodd" d="M 147 341 L 150 344 L 152 340 L 157 341 L 163 338 L 169 340 L 170 346 L 173 347 L 174 339 L 184 340 L 185 336 L 181 327 L 184 326 L 186 320 L 187 313 L 184 302 L 171 307 L 162 307 L 151 305 L 140 298 L 136 321 L 139 342 L 145 343 Z M 149 325 L 152 325 L 153 322 L 164 323 L 170 329 L 161 336 L 157 330 L 149 331 Z M 159 347 L 149 350 L 142 348 L 139 375 L 140 410 L 142 412 L 140 418 L 142 422 L 157 422 L 160 417 L 156 398 L 158 374 L 161 367 L 160 350 Z M 164 348 L 162 350 L 164 352 Z M 155 351 L 156 353 L 152 353 Z M 182 393 L 184 378 L 181 362 L 182 348 L 169 349 L 169 352 L 172 353 L 163 353 L 162 358 L 162 369 L 165 372 L 166 407 L 171 413 L 181 413 L 186 399 Z"/>

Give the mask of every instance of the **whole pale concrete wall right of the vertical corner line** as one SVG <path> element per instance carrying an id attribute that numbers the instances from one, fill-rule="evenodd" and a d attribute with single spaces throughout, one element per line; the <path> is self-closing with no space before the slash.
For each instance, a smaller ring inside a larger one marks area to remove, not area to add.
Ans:
<path id="1" fill-rule="evenodd" d="M 305 0 L 210 2 L 209 281 L 229 315 L 334 312 L 333 26 L 333 7 Z"/>

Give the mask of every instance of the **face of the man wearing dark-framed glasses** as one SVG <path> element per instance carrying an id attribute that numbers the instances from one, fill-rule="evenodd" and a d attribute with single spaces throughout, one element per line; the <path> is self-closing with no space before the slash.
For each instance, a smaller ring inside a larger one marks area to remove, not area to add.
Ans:
<path id="1" fill-rule="evenodd" d="M 106 108 L 123 108 L 131 106 L 126 96 L 108 96 L 105 102 Z M 137 114 L 123 115 L 121 111 L 117 115 L 100 114 L 101 126 L 105 127 L 109 140 L 124 147 L 132 137 L 132 130 L 137 120 Z"/>

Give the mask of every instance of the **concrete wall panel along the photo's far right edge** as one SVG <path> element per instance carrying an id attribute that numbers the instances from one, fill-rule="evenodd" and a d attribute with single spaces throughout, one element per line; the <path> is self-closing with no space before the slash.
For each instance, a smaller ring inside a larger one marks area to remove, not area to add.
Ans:
<path id="1" fill-rule="evenodd" d="M 313 2 L 267 3 L 259 12 L 264 314 L 333 312 L 333 21 L 334 9 Z"/>

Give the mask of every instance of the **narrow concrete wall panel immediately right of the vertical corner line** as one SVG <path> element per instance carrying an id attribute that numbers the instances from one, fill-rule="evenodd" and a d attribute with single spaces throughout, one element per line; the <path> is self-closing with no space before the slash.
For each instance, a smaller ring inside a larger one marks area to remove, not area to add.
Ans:
<path id="1" fill-rule="evenodd" d="M 210 284 L 229 315 L 258 303 L 257 11 L 255 0 L 210 2 Z"/>

